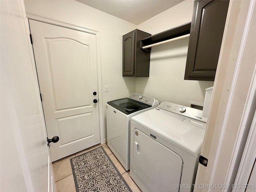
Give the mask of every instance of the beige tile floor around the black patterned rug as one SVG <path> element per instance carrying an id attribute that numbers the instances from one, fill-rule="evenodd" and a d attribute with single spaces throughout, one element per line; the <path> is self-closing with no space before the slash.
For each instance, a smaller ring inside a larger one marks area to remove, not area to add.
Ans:
<path id="1" fill-rule="evenodd" d="M 114 163 L 114 165 L 116 166 L 120 174 L 122 174 L 124 180 L 127 182 L 131 190 L 133 192 L 141 192 L 140 188 L 138 188 L 138 186 L 134 183 L 132 178 L 130 178 L 130 171 L 126 171 L 124 169 L 122 164 L 120 164 L 120 162 L 118 161 L 116 156 L 114 156 L 112 151 L 108 148 L 106 143 L 93 146 L 91 148 L 78 152 L 74 155 L 68 156 L 62 160 L 54 162 L 52 166 L 53 166 L 57 192 L 76 192 L 76 187 L 75 187 L 71 164 L 70 164 L 70 158 L 83 154 L 99 146 L 102 146 L 104 148 L 109 158 L 112 160 L 112 162 Z"/>

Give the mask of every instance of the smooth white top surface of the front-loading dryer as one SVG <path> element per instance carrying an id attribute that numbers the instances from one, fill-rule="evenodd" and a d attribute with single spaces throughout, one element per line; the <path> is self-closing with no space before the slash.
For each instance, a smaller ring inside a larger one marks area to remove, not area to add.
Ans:
<path id="1" fill-rule="evenodd" d="M 197 157 L 202 148 L 206 123 L 160 108 L 132 117 L 132 122 Z"/>

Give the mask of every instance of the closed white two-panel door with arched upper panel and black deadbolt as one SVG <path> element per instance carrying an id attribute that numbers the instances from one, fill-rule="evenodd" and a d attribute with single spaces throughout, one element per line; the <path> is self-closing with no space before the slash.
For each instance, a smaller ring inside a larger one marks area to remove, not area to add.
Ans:
<path id="1" fill-rule="evenodd" d="M 100 143 L 96 36 L 29 24 L 48 138 L 60 137 L 50 144 L 55 161 Z"/>

